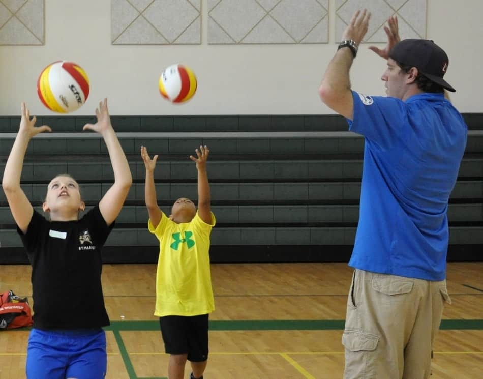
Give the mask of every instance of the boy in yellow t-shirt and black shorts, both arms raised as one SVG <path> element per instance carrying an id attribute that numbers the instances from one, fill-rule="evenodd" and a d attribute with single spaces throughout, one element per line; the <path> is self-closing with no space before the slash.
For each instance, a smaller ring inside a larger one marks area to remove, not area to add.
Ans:
<path id="1" fill-rule="evenodd" d="M 168 378 L 182 379 L 186 361 L 191 379 L 202 379 L 208 359 L 208 313 L 215 310 L 209 269 L 209 235 L 215 226 L 211 211 L 206 160 L 209 149 L 200 146 L 190 155 L 198 170 L 198 211 L 193 201 L 179 198 L 167 217 L 158 207 L 154 169 L 145 147 L 141 157 L 146 168 L 144 197 L 148 228 L 159 240 L 156 275 L 156 310 L 164 347 L 169 356 Z"/>

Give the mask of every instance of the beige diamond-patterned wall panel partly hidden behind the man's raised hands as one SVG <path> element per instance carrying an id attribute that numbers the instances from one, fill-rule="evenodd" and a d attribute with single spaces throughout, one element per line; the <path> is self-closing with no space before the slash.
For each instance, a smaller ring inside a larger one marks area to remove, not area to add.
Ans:
<path id="1" fill-rule="evenodd" d="M 399 35 L 405 38 L 426 38 L 427 0 L 336 0 L 336 43 L 357 9 L 372 13 L 369 30 L 363 42 L 384 43 L 383 26 L 389 16 L 397 16 Z"/>

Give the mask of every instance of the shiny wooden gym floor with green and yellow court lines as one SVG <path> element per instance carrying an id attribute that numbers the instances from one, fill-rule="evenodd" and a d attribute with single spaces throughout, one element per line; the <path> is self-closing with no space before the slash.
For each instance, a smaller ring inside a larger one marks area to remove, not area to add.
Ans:
<path id="1" fill-rule="evenodd" d="M 31 300 L 29 266 L 0 270 L 0 291 Z M 212 265 L 216 311 L 204 377 L 341 379 L 351 275 L 346 264 Z M 156 265 L 104 265 L 108 379 L 167 376 L 155 279 Z M 483 263 L 448 264 L 447 282 L 453 304 L 444 310 L 432 379 L 483 377 Z M 28 330 L 0 332 L 0 379 L 25 377 L 27 338 Z"/>

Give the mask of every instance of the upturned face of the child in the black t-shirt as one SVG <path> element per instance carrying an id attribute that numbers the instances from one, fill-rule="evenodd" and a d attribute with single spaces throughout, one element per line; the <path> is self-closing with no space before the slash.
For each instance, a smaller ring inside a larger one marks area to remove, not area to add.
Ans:
<path id="1" fill-rule="evenodd" d="M 51 215 L 74 215 L 84 210 L 79 184 L 74 178 L 59 175 L 52 179 L 47 187 L 47 196 L 42 206 L 44 212 Z"/>

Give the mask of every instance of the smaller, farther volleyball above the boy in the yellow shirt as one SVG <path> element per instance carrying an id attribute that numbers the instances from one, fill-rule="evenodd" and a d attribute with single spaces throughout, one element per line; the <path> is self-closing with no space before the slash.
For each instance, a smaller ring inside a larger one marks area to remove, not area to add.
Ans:
<path id="1" fill-rule="evenodd" d="M 196 92 L 197 85 L 193 71 L 183 65 L 167 67 L 159 78 L 159 92 L 173 103 L 190 100 Z"/>

